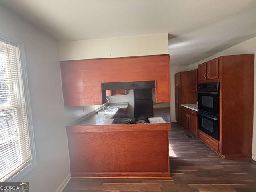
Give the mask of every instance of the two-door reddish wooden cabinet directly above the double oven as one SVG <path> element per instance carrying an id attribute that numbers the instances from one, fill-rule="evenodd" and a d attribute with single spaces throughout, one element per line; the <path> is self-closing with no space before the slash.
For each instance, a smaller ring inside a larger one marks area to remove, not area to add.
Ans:
<path id="1" fill-rule="evenodd" d="M 198 65 L 198 82 L 207 82 L 219 78 L 219 59 L 213 59 Z"/>

